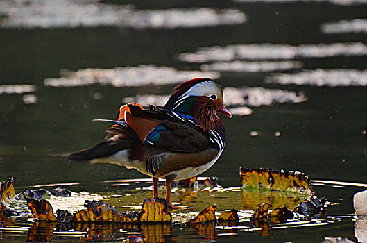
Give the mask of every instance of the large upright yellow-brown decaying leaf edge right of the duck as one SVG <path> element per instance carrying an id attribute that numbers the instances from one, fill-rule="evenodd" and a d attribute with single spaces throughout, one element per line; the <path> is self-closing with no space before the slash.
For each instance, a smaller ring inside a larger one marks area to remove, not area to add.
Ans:
<path id="1" fill-rule="evenodd" d="M 242 187 L 258 187 L 269 190 L 299 192 L 311 196 L 314 191 L 307 174 L 298 171 L 239 168 Z"/>

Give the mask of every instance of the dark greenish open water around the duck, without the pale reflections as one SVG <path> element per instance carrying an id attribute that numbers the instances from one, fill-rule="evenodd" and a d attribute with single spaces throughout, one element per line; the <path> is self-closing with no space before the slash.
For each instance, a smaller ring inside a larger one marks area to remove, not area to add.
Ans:
<path id="1" fill-rule="evenodd" d="M 24 104 L 22 94 L 0 94 L 0 179 L 15 178 L 15 190 L 33 185 L 77 182 L 74 192 L 122 193 L 106 180 L 142 178 L 137 171 L 115 165 L 69 164 L 61 155 L 103 139 L 105 124 L 96 118 L 114 118 L 123 97 L 137 94 L 169 94 L 173 85 L 142 87 L 46 87 L 45 78 L 60 76 L 60 69 L 114 68 L 137 65 L 197 70 L 198 64 L 180 62 L 178 54 L 199 47 L 228 44 L 319 44 L 364 42 L 367 35 L 327 35 L 321 24 L 340 19 L 366 18 L 366 6 L 334 6 L 330 3 L 198 3 L 139 1 L 137 8 L 185 8 L 191 4 L 214 8 L 235 7 L 248 16 L 244 24 L 206 28 L 0 28 L 0 85 L 35 85 L 37 103 Z M 211 6 L 212 5 L 212 6 Z M 298 58 L 304 69 L 365 69 L 367 56 Z M 296 70 L 289 71 L 297 72 Z M 249 116 L 223 118 L 228 141 L 221 158 L 205 176 L 219 177 L 223 187 L 239 186 L 239 167 L 303 171 L 314 180 L 367 183 L 367 144 L 362 131 L 367 125 L 366 87 L 316 87 L 266 83 L 270 72 L 222 72 L 223 87 L 266 87 L 303 92 L 303 103 L 275 103 L 252 107 Z M 137 76 L 139 78 L 139 76 Z M 182 80 L 185 81 L 185 80 Z M 137 80 L 139 82 L 139 80 Z M 94 99 L 94 94 L 101 99 Z M 250 136 L 250 131 L 260 135 Z M 275 137 L 280 131 L 280 137 Z M 131 188 L 130 188 L 131 189 Z M 129 190 L 130 190 L 129 189 Z M 316 193 L 332 203 L 328 214 L 350 215 L 352 195 L 359 187 L 316 186 Z M 228 198 L 228 207 L 233 199 Z M 200 201 L 200 198 L 197 199 Z M 137 202 L 137 204 L 140 203 Z M 183 203 L 185 204 L 185 202 Z M 208 205 L 209 206 L 209 205 Z M 222 210 L 225 208 L 222 208 Z M 229 209 L 229 208 L 228 208 Z M 241 208 L 238 208 L 240 210 Z M 17 224 L 17 223 L 15 223 Z M 20 223 L 19 223 L 20 224 Z M 327 226 L 287 228 L 261 237 L 240 231 L 236 237 L 216 237 L 217 242 L 322 242 L 324 237 L 348 237 L 357 241 L 354 221 L 347 218 Z M 23 241 L 26 235 L 7 237 Z M 54 237 L 55 238 L 55 237 Z M 61 240 L 56 237 L 56 240 Z M 119 237 L 110 240 L 119 240 Z M 66 240 L 72 240 L 67 238 Z M 121 240 L 121 239 L 120 239 Z M 200 242 L 194 229 L 173 227 L 169 241 Z"/>

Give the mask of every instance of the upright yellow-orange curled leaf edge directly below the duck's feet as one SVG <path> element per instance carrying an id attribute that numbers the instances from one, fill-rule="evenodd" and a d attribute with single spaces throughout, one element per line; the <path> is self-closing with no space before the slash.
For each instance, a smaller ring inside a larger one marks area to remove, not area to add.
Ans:
<path id="1" fill-rule="evenodd" d="M 171 213 L 167 212 L 167 205 L 164 199 L 144 199 L 142 212 L 139 214 L 139 219 L 142 223 L 171 223 L 172 215 Z"/>

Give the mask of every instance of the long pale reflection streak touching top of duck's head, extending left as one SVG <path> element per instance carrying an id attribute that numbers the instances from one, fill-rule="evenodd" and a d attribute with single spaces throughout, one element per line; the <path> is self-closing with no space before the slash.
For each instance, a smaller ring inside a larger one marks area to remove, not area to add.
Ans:
<path id="1" fill-rule="evenodd" d="M 218 72 L 179 71 L 172 67 L 115 67 L 114 69 L 80 69 L 76 72 L 63 70 L 60 78 L 46 78 L 44 85 L 51 87 L 80 87 L 100 84 L 114 87 L 139 87 L 181 83 L 190 78 L 218 79 Z"/>

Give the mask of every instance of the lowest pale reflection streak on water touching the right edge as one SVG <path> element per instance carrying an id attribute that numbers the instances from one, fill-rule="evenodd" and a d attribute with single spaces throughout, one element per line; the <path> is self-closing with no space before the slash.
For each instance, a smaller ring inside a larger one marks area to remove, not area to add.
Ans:
<path id="1" fill-rule="evenodd" d="M 282 85 L 312 85 L 329 87 L 367 86 L 367 70 L 316 69 L 294 74 L 271 74 L 268 82 Z"/>

